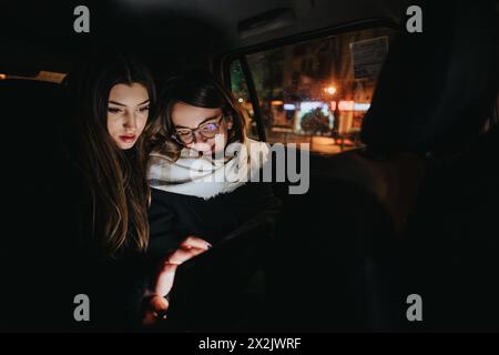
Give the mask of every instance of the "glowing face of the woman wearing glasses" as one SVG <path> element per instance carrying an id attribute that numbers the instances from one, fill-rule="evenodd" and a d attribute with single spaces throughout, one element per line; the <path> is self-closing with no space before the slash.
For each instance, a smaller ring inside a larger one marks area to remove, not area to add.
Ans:
<path id="1" fill-rule="evenodd" d="M 185 146 L 202 152 L 204 155 L 225 149 L 227 131 L 233 125 L 232 120 L 226 120 L 223 116 L 220 108 L 197 108 L 184 102 L 177 102 L 173 105 L 172 121 L 177 140 L 179 136 L 183 136 L 180 141 L 183 141 Z M 190 142 L 191 140 L 192 142 Z"/>

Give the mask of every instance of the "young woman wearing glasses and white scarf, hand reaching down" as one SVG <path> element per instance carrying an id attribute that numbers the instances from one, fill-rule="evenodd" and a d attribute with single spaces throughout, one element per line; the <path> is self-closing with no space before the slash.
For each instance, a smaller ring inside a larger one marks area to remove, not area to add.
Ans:
<path id="1" fill-rule="evenodd" d="M 180 264 L 278 206 L 269 184 L 252 182 L 269 161 L 267 145 L 246 136 L 243 109 L 210 73 L 171 79 L 159 102 L 160 118 L 149 132 L 147 179 L 149 251 L 160 272 L 146 323 L 169 308 L 165 296 Z"/>

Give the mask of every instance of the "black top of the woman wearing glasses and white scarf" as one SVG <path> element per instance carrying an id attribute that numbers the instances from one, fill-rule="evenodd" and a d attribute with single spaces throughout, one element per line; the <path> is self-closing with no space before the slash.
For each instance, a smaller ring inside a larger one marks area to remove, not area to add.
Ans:
<path id="1" fill-rule="evenodd" d="M 216 245 L 257 214 L 272 215 L 278 205 L 267 183 L 248 182 L 208 200 L 152 189 L 149 253 L 165 256 L 190 235 Z"/>

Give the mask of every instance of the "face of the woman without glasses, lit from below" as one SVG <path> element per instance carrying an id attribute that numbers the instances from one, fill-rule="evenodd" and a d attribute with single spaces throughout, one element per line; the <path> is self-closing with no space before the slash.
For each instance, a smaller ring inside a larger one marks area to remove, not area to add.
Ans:
<path id="1" fill-rule="evenodd" d="M 131 149 L 144 130 L 149 115 L 147 90 L 139 84 L 115 84 L 108 102 L 108 132 L 122 150 Z"/>

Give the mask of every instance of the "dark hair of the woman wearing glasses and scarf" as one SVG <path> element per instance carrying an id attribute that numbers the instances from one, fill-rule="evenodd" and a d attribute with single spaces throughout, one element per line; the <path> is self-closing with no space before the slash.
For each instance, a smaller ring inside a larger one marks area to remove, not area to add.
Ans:
<path id="1" fill-rule="evenodd" d="M 165 82 L 159 99 L 159 118 L 147 131 L 149 151 L 159 152 L 177 160 L 182 145 L 172 140 L 175 128 L 172 109 L 177 102 L 197 108 L 222 109 L 225 118 L 231 118 L 233 128 L 228 132 L 227 144 L 245 141 L 246 113 L 232 93 L 204 70 L 191 70 Z"/>

